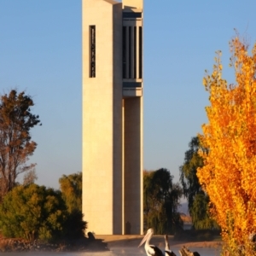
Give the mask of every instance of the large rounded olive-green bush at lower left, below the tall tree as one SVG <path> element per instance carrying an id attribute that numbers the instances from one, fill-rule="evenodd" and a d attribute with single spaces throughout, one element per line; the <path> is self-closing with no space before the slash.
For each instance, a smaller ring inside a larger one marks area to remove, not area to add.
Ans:
<path id="1" fill-rule="evenodd" d="M 67 207 L 61 192 L 30 184 L 16 186 L 0 205 L 3 236 L 55 241 L 65 234 Z"/>

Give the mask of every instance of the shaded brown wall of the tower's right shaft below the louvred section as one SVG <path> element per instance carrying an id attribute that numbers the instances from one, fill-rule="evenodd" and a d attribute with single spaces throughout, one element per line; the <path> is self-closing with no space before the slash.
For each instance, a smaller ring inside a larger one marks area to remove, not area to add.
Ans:
<path id="1" fill-rule="evenodd" d="M 143 233 L 143 99 L 124 100 L 125 234 Z"/>

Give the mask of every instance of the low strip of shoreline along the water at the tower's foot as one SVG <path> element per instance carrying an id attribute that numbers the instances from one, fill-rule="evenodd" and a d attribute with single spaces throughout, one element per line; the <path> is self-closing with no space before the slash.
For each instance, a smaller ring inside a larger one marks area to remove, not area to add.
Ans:
<path id="1" fill-rule="evenodd" d="M 40 252 L 104 252 L 109 250 L 123 248 L 137 248 L 143 239 L 143 235 L 94 235 L 93 237 L 84 237 L 77 241 L 63 241 L 59 244 L 40 243 L 37 241 L 29 242 L 22 239 L 3 238 L 0 239 L 0 253 L 7 252 L 26 252 L 26 253 L 40 253 Z M 151 244 L 157 247 L 165 247 L 164 236 L 153 236 Z M 169 244 L 171 249 L 180 249 L 182 247 L 188 248 L 209 248 L 221 249 L 223 247 L 222 241 L 189 241 L 175 240 L 173 236 L 169 236 Z"/>

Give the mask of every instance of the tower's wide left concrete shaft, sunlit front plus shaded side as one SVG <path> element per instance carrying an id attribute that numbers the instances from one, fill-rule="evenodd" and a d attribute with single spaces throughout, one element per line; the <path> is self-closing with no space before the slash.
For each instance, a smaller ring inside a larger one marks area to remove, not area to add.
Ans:
<path id="1" fill-rule="evenodd" d="M 101 235 L 122 232 L 122 80 L 114 58 L 121 52 L 121 26 L 113 25 L 121 7 L 102 0 L 82 5 L 83 212 L 88 230 Z M 89 26 L 96 26 L 96 78 L 89 78 Z"/>

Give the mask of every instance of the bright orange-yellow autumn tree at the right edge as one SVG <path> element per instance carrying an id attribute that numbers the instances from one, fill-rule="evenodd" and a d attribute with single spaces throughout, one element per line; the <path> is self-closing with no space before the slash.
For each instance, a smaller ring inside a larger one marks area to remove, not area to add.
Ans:
<path id="1" fill-rule="evenodd" d="M 249 236 L 256 232 L 256 44 L 252 55 L 240 38 L 230 42 L 236 83 L 222 79 L 221 52 L 203 84 L 209 92 L 208 124 L 202 125 L 201 185 L 212 202 L 230 255 L 255 255 Z"/>

